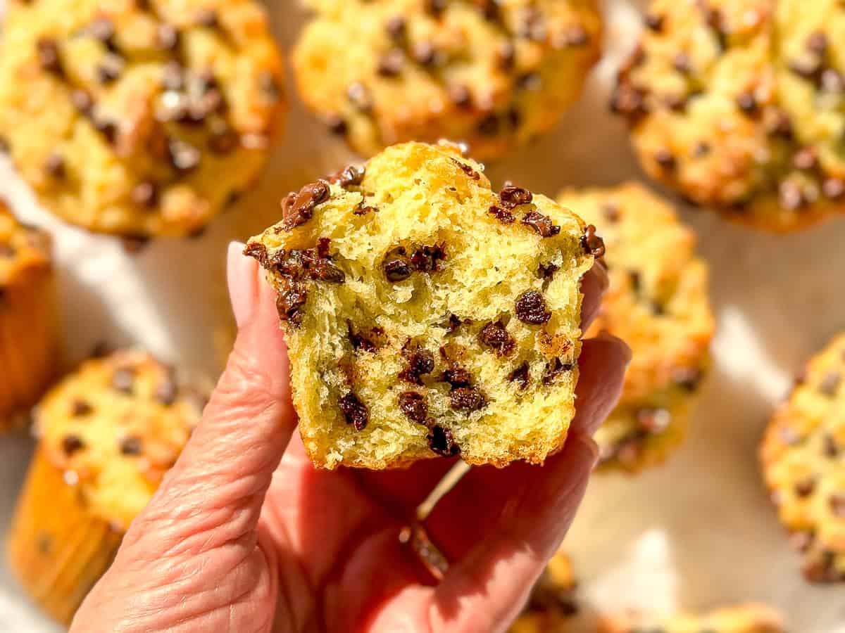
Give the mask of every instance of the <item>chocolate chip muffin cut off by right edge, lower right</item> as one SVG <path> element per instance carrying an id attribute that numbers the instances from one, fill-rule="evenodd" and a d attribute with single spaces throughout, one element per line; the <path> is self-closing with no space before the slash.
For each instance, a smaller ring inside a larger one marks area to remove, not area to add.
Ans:
<path id="1" fill-rule="evenodd" d="M 763 475 L 811 582 L 845 582 L 845 335 L 810 359 L 760 447 Z"/>

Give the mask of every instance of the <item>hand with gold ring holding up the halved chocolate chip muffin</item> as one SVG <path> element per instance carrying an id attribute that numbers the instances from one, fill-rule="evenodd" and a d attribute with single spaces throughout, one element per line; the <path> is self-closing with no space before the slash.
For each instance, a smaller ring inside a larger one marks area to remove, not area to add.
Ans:
<path id="1" fill-rule="evenodd" d="M 229 252 L 238 333 L 226 371 L 72 633 L 506 629 L 581 501 L 590 436 L 619 397 L 629 349 L 584 342 L 578 413 L 544 466 L 472 468 L 435 506 L 425 526 L 450 561 L 436 582 L 398 534 L 455 460 L 313 468 L 294 434 L 275 294 L 242 248 Z M 597 265 L 582 284 L 586 322 L 606 280 Z"/>

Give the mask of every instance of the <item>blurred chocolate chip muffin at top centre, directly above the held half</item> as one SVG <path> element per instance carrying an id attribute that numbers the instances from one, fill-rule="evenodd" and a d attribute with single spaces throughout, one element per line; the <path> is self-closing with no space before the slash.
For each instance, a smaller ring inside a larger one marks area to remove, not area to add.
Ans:
<path id="1" fill-rule="evenodd" d="M 491 160 L 546 132 L 601 51 L 595 0 L 310 0 L 309 109 L 363 156 L 449 138 Z"/>

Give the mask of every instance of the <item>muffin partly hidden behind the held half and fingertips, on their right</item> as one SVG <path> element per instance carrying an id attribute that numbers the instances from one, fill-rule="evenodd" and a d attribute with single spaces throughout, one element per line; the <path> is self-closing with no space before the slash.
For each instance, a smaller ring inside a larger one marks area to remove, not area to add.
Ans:
<path id="1" fill-rule="evenodd" d="M 591 333 L 609 330 L 634 355 L 619 405 L 595 439 L 603 468 L 636 471 L 684 439 L 713 333 L 706 263 L 674 209 L 634 182 L 563 192 L 558 202 L 608 245 L 610 287 Z"/>

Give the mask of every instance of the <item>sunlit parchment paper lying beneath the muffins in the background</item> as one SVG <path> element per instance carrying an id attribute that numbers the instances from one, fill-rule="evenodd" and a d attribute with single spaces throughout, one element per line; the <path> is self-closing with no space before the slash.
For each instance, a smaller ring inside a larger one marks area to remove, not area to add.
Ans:
<path id="1" fill-rule="evenodd" d="M 275 35 L 289 50 L 303 16 L 270 0 Z M 641 178 L 624 127 L 608 114 L 608 89 L 639 30 L 632 0 L 607 0 L 608 54 L 557 130 L 488 168 L 554 194 L 571 185 Z M 0 0 L 0 8 L 3 0 Z M 154 241 L 137 255 L 119 241 L 62 225 L 0 159 L 0 195 L 27 221 L 52 230 L 68 365 L 95 343 L 141 344 L 213 378 L 232 326 L 226 244 L 278 219 L 291 189 L 356 160 L 292 102 L 286 136 L 259 186 L 199 239 Z M 683 210 L 711 263 L 717 314 L 714 366 L 689 441 L 669 463 L 630 478 L 593 479 L 566 540 L 593 609 L 708 609 L 757 600 L 787 614 L 794 633 L 845 633 L 845 587 L 810 586 L 799 574 L 760 481 L 757 442 L 809 354 L 845 327 L 845 220 L 799 235 L 762 235 L 712 214 Z M 0 438 L 0 531 L 25 476 L 31 441 Z M 15 586 L 0 554 L 0 631 L 59 630 Z"/>

